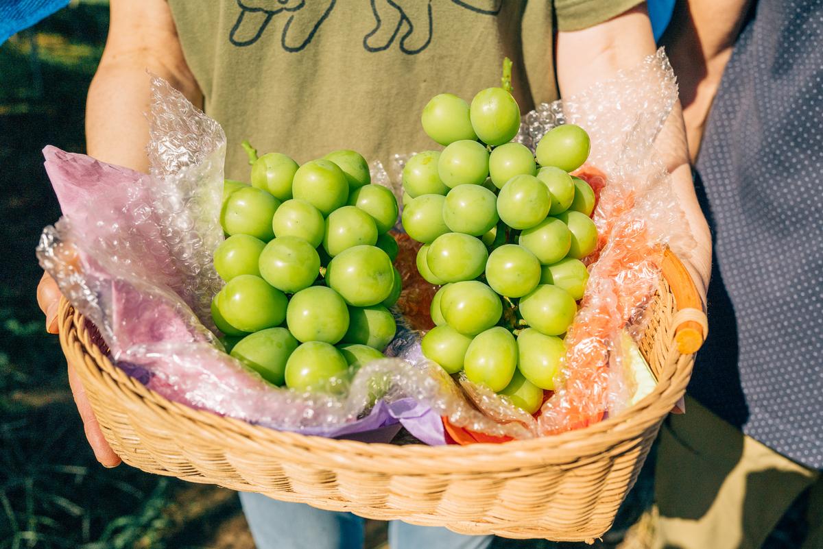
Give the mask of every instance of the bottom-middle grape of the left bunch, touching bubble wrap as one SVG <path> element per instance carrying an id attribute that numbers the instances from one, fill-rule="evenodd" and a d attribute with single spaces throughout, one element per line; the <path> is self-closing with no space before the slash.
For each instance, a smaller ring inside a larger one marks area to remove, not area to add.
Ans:
<path id="1" fill-rule="evenodd" d="M 348 369 L 346 358 L 333 345 L 308 341 L 295 348 L 286 362 L 286 387 L 322 389 L 333 377 L 345 376 Z"/>

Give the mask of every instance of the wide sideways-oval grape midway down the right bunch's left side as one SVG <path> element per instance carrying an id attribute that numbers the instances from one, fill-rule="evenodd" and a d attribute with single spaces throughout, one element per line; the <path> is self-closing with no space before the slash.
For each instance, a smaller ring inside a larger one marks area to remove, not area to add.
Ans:
<path id="1" fill-rule="evenodd" d="M 445 233 L 429 245 L 425 261 L 438 279 L 460 282 L 480 276 L 488 256 L 489 252 L 478 238 L 463 233 Z"/>

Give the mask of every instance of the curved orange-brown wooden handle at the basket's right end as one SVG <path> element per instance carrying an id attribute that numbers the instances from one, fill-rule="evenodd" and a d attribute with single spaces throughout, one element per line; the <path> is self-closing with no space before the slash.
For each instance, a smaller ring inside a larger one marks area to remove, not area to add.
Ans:
<path id="1" fill-rule="evenodd" d="M 686 266 L 668 248 L 663 254 L 661 268 L 677 302 L 677 313 L 672 319 L 677 351 L 681 354 L 697 353 L 709 334 L 709 321 L 695 281 Z"/>

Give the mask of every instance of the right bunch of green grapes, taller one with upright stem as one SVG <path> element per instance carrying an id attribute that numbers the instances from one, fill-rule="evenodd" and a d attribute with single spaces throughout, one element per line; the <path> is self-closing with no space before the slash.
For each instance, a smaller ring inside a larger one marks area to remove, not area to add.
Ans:
<path id="1" fill-rule="evenodd" d="M 501 87 L 470 104 L 435 95 L 423 108 L 423 130 L 444 148 L 403 168 L 402 224 L 423 244 L 421 277 L 440 286 L 425 357 L 536 413 L 565 359 L 597 228 L 594 192 L 570 174 L 588 159 L 588 134 L 555 127 L 534 153 L 512 141 L 520 108 L 508 61 Z"/>

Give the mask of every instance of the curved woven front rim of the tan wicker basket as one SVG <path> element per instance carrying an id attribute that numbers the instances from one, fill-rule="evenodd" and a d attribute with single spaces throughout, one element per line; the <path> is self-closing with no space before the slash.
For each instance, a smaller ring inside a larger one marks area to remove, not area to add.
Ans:
<path id="1" fill-rule="evenodd" d="M 546 450 L 562 453 L 574 452 L 584 458 L 588 454 L 597 454 L 602 448 L 604 439 L 614 439 L 615 442 L 619 442 L 655 426 L 661 418 L 661 410 L 664 410 L 663 415 L 665 415 L 681 398 L 690 376 L 688 361 L 674 361 L 673 366 L 660 372 L 658 383 L 652 393 L 639 403 L 627 408 L 614 418 L 607 418 L 588 427 L 557 435 L 538 436 L 499 444 L 477 443 L 472 445 L 393 445 L 362 442 L 305 435 L 294 431 L 278 431 L 165 399 L 162 395 L 146 388 L 135 378 L 128 376 L 119 367 L 114 366 L 100 348 L 91 341 L 91 335 L 86 330 L 83 316 L 78 311 L 74 311 L 65 299 L 61 300 L 59 313 L 60 339 L 63 348 L 75 347 L 75 350 L 79 351 L 87 362 L 91 361 L 100 374 L 108 378 L 106 383 L 112 390 L 119 390 L 126 397 L 136 396 L 142 404 L 147 404 L 150 408 L 159 408 L 175 416 L 182 416 L 179 419 L 198 424 L 198 436 L 204 436 L 206 432 L 209 432 L 212 436 L 224 441 L 227 436 L 230 436 L 240 445 L 249 445 L 249 447 L 256 447 L 257 450 L 263 451 L 272 444 L 296 447 L 323 446 L 327 447 L 327 450 L 332 450 L 333 447 L 340 453 L 340 463 L 335 465 L 342 468 L 346 468 L 346 459 L 352 454 L 370 456 L 379 454 L 381 459 L 421 459 L 428 462 L 430 459 L 442 458 L 445 452 L 449 453 L 450 457 L 471 458 L 472 464 L 477 465 L 484 462 L 489 462 L 489 464 L 499 462 L 501 455 L 506 454 L 517 454 L 518 463 L 551 463 L 553 459 L 551 459 L 551 454 L 546 454 Z M 123 406 L 133 405 L 128 398 L 122 401 Z M 542 450 L 542 452 L 534 450 Z"/>

